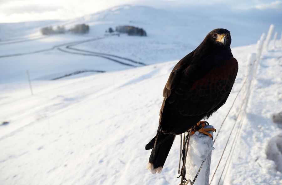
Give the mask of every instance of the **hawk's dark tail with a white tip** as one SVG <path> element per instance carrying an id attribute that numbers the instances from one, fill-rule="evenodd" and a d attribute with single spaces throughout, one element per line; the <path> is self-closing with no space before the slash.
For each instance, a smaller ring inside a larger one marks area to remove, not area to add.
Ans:
<path id="1" fill-rule="evenodd" d="M 160 173 L 165 164 L 165 160 L 170 152 L 170 148 L 173 144 L 175 135 L 173 134 L 163 134 L 159 133 L 156 146 L 152 150 L 147 169 L 150 170 L 153 174 L 156 172 Z M 146 145 L 146 150 L 149 150 L 154 147 L 155 137 Z"/>

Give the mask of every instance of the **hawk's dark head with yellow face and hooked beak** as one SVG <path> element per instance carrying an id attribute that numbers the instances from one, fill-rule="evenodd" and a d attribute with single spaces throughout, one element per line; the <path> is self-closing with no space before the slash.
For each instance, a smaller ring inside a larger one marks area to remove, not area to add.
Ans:
<path id="1" fill-rule="evenodd" d="M 230 47 L 231 35 L 230 31 L 223 28 L 217 28 L 207 34 L 206 39 L 217 46 Z"/>

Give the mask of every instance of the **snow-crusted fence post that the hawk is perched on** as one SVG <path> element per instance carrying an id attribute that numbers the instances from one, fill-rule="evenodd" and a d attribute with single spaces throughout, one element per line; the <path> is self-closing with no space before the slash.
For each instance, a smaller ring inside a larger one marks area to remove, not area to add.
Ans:
<path id="1" fill-rule="evenodd" d="M 213 128 L 211 125 L 206 125 L 205 128 Z M 209 133 L 213 136 L 213 132 L 209 131 Z M 195 132 L 190 137 L 187 158 L 186 158 L 186 179 L 194 180 L 196 173 L 199 170 L 202 162 L 205 160 L 201 171 L 194 182 L 194 185 L 208 185 L 209 177 L 210 177 L 210 168 L 211 168 L 211 157 L 212 150 L 214 147 L 213 140 L 211 137 L 200 133 L 198 131 Z M 187 147 L 187 146 L 186 146 Z M 189 183 L 188 183 L 189 184 Z"/>

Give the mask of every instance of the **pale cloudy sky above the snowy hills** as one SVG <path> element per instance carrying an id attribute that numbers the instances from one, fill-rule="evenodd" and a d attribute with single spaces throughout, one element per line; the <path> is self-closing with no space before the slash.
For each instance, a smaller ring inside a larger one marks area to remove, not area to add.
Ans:
<path id="1" fill-rule="evenodd" d="M 282 11 L 280 0 L 0 0 L 0 23 L 37 20 L 66 20 L 122 4 L 170 9 L 191 6 L 218 6 L 237 10 L 273 9 Z"/>

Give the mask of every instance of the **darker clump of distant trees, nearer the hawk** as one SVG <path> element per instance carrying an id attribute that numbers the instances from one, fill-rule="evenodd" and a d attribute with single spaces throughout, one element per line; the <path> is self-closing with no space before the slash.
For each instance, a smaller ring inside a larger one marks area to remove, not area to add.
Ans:
<path id="1" fill-rule="evenodd" d="M 114 30 L 112 28 L 109 28 L 108 30 L 106 30 L 106 32 L 113 33 Z M 147 36 L 147 33 L 143 28 L 127 26 L 127 25 L 117 26 L 116 32 L 127 33 L 128 35 Z"/>

